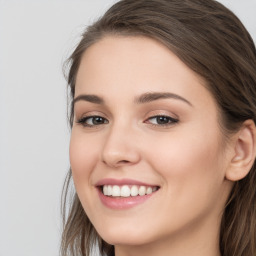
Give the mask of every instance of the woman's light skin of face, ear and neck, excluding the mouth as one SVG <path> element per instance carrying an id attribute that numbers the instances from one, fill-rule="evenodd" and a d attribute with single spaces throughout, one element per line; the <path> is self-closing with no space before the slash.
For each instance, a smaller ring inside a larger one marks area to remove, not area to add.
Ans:
<path id="1" fill-rule="evenodd" d="M 254 157 L 253 122 L 227 142 L 205 82 L 162 44 L 108 36 L 84 53 L 70 162 L 85 212 L 117 256 L 219 256 L 225 202 Z M 160 189 L 135 207 L 110 209 L 96 187 L 104 178 Z"/>

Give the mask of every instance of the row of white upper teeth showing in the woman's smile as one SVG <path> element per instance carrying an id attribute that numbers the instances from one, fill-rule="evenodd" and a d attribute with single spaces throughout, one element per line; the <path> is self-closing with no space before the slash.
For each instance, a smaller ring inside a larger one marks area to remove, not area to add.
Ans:
<path id="1" fill-rule="evenodd" d="M 152 194 L 157 190 L 157 187 L 146 187 L 146 186 L 129 186 L 129 185 L 104 185 L 103 194 L 105 196 L 113 197 L 129 197 L 129 196 L 145 196 Z"/>

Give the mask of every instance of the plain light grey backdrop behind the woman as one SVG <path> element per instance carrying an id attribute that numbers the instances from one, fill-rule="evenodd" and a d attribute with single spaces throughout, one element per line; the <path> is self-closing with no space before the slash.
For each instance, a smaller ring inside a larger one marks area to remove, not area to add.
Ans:
<path id="1" fill-rule="evenodd" d="M 0 0 L 0 256 L 57 256 L 69 168 L 64 60 L 114 0 Z M 256 41 L 256 0 L 221 0 Z"/>

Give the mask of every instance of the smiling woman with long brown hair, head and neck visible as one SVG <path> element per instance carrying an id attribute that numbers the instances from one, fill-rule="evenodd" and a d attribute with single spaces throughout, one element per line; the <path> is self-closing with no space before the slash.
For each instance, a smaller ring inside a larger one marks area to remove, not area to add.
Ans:
<path id="1" fill-rule="evenodd" d="M 70 57 L 62 255 L 256 255 L 255 68 L 212 0 L 123 0 L 90 26 Z"/>

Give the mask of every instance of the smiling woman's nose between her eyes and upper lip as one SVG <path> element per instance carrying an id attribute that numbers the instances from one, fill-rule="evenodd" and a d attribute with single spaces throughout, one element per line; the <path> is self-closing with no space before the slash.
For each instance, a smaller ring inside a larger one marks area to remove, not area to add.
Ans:
<path id="1" fill-rule="evenodd" d="M 133 165 L 140 161 L 136 144 L 136 132 L 132 129 L 113 126 L 102 149 L 102 161 L 111 168 Z"/>

